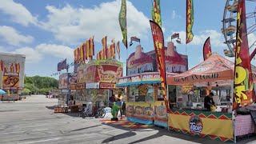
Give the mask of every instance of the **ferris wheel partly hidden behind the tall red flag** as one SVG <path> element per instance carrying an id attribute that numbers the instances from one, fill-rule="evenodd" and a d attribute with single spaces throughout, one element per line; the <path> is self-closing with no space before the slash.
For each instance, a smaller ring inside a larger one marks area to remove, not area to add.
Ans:
<path id="1" fill-rule="evenodd" d="M 250 7 L 249 9 L 247 7 Z M 228 57 L 234 57 L 234 48 L 236 43 L 238 0 L 226 0 L 226 6 L 222 19 L 222 34 L 224 35 L 228 50 L 224 54 Z M 246 27 L 247 35 L 256 35 L 256 0 L 246 0 Z M 249 42 L 249 49 L 255 48 L 256 38 Z"/>

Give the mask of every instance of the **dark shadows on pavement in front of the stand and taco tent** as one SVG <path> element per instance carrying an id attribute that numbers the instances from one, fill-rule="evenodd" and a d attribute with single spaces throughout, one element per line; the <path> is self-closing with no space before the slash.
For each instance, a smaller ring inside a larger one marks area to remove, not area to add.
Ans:
<path id="1" fill-rule="evenodd" d="M 111 138 L 107 138 L 102 143 L 113 142 L 113 141 L 116 141 L 118 139 L 132 137 L 132 136 L 136 135 L 136 133 L 134 133 L 135 131 L 154 131 L 154 130 L 158 130 L 158 133 L 150 135 L 149 137 L 146 137 L 146 138 L 139 139 L 139 140 L 134 141 L 134 142 L 130 142 L 130 144 L 134 144 L 134 143 L 138 143 L 138 142 L 146 142 L 150 139 L 161 138 L 162 136 L 178 138 L 178 139 L 182 139 L 182 140 L 186 140 L 186 141 L 190 141 L 190 142 L 207 143 L 207 144 L 234 143 L 234 142 L 221 142 L 219 140 L 211 140 L 210 138 L 200 138 L 198 136 L 192 136 L 192 135 L 189 135 L 189 134 L 182 134 L 182 133 L 176 132 L 174 130 L 167 130 L 166 128 L 161 128 L 161 127 L 157 127 L 157 126 L 131 129 L 129 127 L 124 127 L 122 125 L 118 125 L 118 124 L 114 124 L 114 123 L 107 123 L 107 122 L 102 122 L 102 125 L 112 126 L 114 128 L 117 128 L 117 129 L 128 131 L 124 134 L 118 134 L 118 135 L 113 136 Z M 237 143 L 238 144 L 251 143 L 251 142 L 254 143 L 253 142 L 254 140 L 256 140 L 255 137 L 254 138 L 240 139 Z"/>

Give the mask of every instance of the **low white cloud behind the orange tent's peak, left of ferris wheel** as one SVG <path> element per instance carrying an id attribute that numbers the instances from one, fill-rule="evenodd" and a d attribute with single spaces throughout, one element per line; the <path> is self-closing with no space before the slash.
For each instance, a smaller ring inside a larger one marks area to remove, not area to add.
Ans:
<path id="1" fill-rule="evenodd" d="M 179 33 L 179 37 L 182 39 L 182 44 L 186 43 L 186 32 L 185 31 L 178 31 L 173 32 Z M 210 44 L 212 47 L 226 47 L 226 44 L 223 42 L 222 33 L 218 33 L 216 30 L 204 30 L 199 34 L 194 34 L 193 41 L 190 42 L 190 45 L 200 45 L 202 46 L 206 41 L 206 38 L 210 37 Z M 171 36 L 167 38 L 167 41 L 171 41 Z"/>

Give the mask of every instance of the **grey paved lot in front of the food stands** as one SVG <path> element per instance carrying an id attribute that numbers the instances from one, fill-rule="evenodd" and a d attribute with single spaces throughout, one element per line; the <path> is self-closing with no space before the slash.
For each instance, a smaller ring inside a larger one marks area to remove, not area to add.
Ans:
<path id="1" fill-rule="evenodd" d="M 32 95 L 22 102 L 0 102 L 0 143 L 222 143 L 158 127 L 130 129 L 96 118 L 54 114 L 57 99 Z M 242 143 L 256 143 L 250 139 Z"/>

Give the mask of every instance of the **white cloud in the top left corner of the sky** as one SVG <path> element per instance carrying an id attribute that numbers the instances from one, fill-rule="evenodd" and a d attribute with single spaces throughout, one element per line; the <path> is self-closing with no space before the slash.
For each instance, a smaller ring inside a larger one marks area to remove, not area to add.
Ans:
<path id="1" fill-rule="evenodd" d="M 13 22 L 17 22 L 23 26 L 37 23 L 37 18 L 35 18 L 25 6 L 13 0 L 1 0 L 0 11 L 10 15 L 10 19 Z"/>

